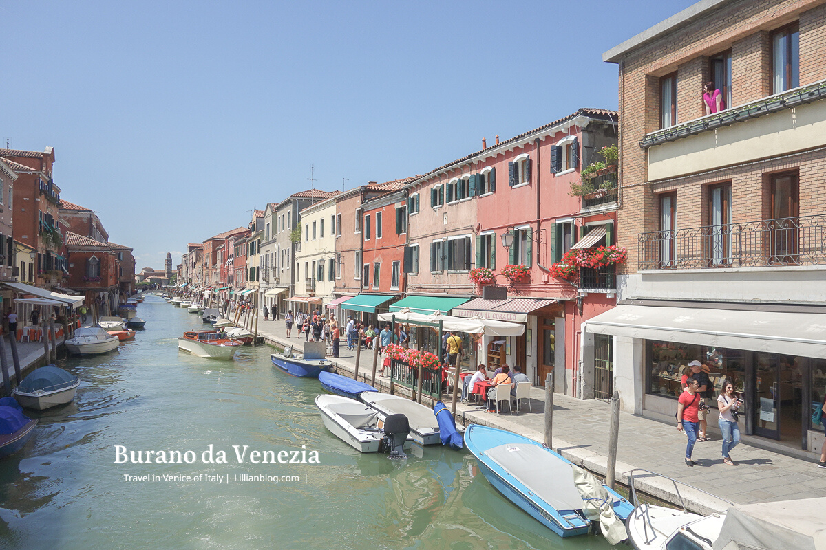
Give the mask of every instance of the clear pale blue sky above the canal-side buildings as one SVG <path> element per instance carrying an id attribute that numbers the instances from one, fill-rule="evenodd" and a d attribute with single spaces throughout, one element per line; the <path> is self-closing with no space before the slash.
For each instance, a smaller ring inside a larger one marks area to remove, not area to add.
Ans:
<path id="1" fill-rule="evenodd" d="M 616 109 L 602 52 L 691 3 L 6 0 L 0 139 L 54 147 L 63 198 L 160 268 L 297 190 Z"/>

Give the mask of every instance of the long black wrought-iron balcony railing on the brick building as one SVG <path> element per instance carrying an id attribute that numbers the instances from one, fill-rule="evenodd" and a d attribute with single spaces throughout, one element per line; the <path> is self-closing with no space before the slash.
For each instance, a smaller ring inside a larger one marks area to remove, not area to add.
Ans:
<path id="1" fill-rule="evenodd" d="M 826 214 L 639 234 L 639 269 L 826 264 Z"/>

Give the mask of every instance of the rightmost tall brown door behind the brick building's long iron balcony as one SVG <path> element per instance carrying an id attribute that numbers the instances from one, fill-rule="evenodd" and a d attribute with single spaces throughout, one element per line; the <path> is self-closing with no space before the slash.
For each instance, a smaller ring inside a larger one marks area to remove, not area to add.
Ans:
<path id="1" fill-rule="evenodd" d="M 771 220 L 767 229 L 771 239 L 772 264 L 796 264 L 800 203 L 796 174 L 771 178 Z"/>

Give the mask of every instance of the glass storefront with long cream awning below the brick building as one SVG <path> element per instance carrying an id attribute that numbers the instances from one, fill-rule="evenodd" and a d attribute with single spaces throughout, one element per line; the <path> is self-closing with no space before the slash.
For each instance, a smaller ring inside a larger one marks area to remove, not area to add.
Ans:
<path id="1" fill-rule="evenodd" d="M 826 315 L 623 304 L 584 330 L 614 336 L 626 410 L 671 418 L 686 365 L 699 360 L 714 384 L 712 428 L 716 396 L 731 380 L 746 404 L 743 434 L 819 452 L 823 428 L 811 414 L 826 395 Z"/>

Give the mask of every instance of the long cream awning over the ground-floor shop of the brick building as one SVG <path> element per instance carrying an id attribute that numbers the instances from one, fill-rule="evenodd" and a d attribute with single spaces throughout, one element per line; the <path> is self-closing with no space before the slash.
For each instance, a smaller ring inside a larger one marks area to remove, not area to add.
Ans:
<path id="1" fill-rule="evenodd" d="M 826 359 L 826 315 L 622 304 L 586 331 Z"/>

